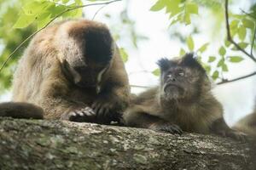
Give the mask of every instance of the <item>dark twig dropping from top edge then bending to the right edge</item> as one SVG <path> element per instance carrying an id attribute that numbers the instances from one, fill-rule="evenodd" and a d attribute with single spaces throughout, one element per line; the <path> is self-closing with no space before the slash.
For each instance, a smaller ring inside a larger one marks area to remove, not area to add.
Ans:
<path id="1" fill-rule="evenodd" d="M 245 51 L 243 48 L 241 48 L 231 37 L 228 3 L 229 3 L 229 0 L 225 0 L 225 19 L 226 19 L 226 29 L 227 29 L 228 41 L 230 41 L 237 49 L 239 49 L 243 54 L 246 54 L 250 59 L 252 59 L 256 63 L 256 59 L 253 57 L 253 55 L 248 54 L 247 51 Z"/>

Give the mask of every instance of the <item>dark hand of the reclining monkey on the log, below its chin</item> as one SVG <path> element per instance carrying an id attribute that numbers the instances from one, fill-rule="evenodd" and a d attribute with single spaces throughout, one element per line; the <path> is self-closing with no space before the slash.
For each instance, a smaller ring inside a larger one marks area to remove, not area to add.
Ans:
<path id="1" fill-rule="evenodd" d="M 156 131 L 156 132 L 164 132 L 164 133 L 177 133 L 182 134 L 183 130 L 178 127 L 176 124 L 168 123 L 168 122 L 157 122 L 151 124 L 148 128 Z"/>

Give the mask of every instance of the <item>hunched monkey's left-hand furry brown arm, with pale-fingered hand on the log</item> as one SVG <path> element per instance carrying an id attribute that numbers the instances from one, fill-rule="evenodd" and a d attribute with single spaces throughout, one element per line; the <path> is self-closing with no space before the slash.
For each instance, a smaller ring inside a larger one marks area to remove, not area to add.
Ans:
<path id="1" fill-rule="evenodd" d="M 69 97 L 69 92 L 70 83 L 58 66 L 52 66 L 49 71 L 45 71 L 38 95 L 38 105 L 43 107 L 45 117 L 74 122 L 93 122 L 95 113 L 89 105 Z"/>

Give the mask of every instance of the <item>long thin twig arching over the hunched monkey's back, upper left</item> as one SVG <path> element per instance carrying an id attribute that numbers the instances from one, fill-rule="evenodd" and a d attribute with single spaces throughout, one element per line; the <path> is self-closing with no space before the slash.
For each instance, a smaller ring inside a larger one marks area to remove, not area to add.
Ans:
<path id="1" fill-rule="evenodd" d="M 122 1 L 122 0 L 108 1 L 107 3 L 90 3 L 90 4 L 87 4 L 87 5 L 79 5 L 79 6 L 75 6 L 75 7 L 72 7 L 72 8 L 67 8 L 66 10 L 64 10 L 61 13 L 57 14 L 52 20 L 49 20 L 49 22 L 44 27 L 42 27 L 38 31 L 35 31 L 34 33 L 32 33 L 32 35 L 27 37 L 23 42 L 20 43 L 20 45 L 18 45 L 17 48 L 15 48 L 15 50 L 11 54 L 9 54 L 8 58 L 4 61 L 3 65 L 0 68 L 0 72 L 3 70 L 3 67 L 7 64 L 9 59 L 11 59 L 11 57 L 24 45 L 24 43 L 26 43 L 29 39 L 34 37 L 39 31 L 42 31 L 44 28 L 49 26 L 50 23 L 52 23 L 54 20 L 59 18 L 62 14 L 65 14 L 65 13 L 67 13 L 69 11 L 72 11 L 72 10 L 75 10 L 75 9 L 78 9 L 78 8 L 85 8 L 85 7 L 96 6 L 96 5 L 107 5 L 107 4 L 115 3 L 115 2 L 118 2 L 118 1 Z"/>

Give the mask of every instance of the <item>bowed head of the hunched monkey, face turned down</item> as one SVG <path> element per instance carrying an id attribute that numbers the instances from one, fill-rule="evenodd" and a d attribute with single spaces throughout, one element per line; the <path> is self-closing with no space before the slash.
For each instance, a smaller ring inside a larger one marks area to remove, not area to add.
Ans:
<path id="1" fill-rule="evenodd" d="M 80 88 L 96 88 L 113 59 L 115 43 L 106 26 L 71 20 L 62 26 L 63 71 Z"/>

